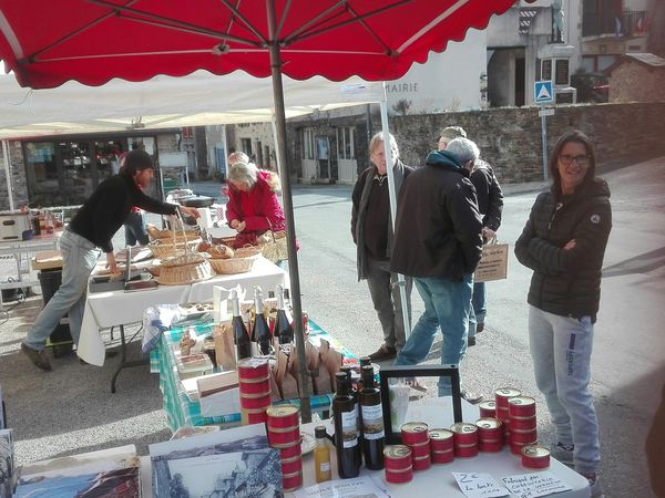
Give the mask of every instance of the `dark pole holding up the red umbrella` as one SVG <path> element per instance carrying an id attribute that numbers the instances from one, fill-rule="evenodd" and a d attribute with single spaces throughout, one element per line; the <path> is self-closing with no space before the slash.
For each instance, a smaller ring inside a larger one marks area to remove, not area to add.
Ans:
<path id="1" fill-rule="evenodd" d="M 282 55 L 278 42 L 275 41 L 275 1 L 266 0 L 268 30 L 270 31 L 270 70 L 273 73 L 273 98 L 275 101 L 275 122 L 277 132 L 277 155 L 279 176 L 282 177 L 282 200 L 286 217 L 286 236 L 288 243 L 288 272 L 290 278 L 290 299 L 294 310 L 296 330 L 296 353 L 298 355 L 298 376 L 300 392 L 300 416 L 303 423 L 311 422 L 309 404 L 309 372 L 305 357 L 305 332 L 303 330 L 303 308 L 300 304 L 300 276 L 298 273 L 298 255 L 296 252 L 296 224 L 294 203 L 290 189 L 289 167 L 286 163 L 286 115 L 284 111 L 284 89 L 282 85 Z"/>

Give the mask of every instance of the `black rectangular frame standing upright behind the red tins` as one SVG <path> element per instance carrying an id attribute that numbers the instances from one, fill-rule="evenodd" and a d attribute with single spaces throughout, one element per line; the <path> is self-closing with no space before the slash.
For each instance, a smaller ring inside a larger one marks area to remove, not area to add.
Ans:
<path id="1" fill-rule="evenodd" d="M 442 412 L 451 422 L 462 421 L 460 375 L 457 367 L 441 365 L 389 365 L 379 371 L 386 440 L 401 443 L 400 427 L 407 422 L 441 426 Z M 439 382 L 451 383 L 452 396 L 439 397 Z"/>

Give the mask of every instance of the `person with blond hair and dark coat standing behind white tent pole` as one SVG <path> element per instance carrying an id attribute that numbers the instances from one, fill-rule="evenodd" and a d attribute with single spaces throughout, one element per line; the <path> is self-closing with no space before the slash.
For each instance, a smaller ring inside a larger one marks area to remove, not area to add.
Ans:
<path id="1" fill-rule="evenodd" d="M 399 148 L 390 135 L 395 190 L 413 170 L 399 160 Z M 360 174 L 354 187 L 351 235 L 357 246 L 358 280 L 367 279 L 375 310 L 383 329 L 383 343 L 369 355 L 372 362 L 392 360 L 405 344 L 405 326 L 397 273 L 390 271 L 392 222 L 388 195 L 388 169 L 383 133 L 369 143 L 372 165 Z M 407 278 L 408 314 L 411 310 L 411 279 Z"/>

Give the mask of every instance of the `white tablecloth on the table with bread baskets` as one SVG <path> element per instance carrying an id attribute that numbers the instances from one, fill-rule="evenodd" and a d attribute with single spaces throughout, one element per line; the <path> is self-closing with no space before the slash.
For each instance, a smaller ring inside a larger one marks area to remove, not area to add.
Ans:
<path id="1" fill-rule="evenodd" d="M 140 292 L 89 293 L 78 354 L 85 362 L 102 366 L 105 346 L 100 329 L 140 322 L 143 320 L 143 311 L 149 307 L 209 301 L 213 299 L 213 287 L 215 286 L 229 289 L 241 284 L 247 290 L 259 286 L 264 290 L 273 290 L 278 283 L 288 287 L 285 271 L 267 259 L 258 257 L 254 268 L 247 273 L 217 276 L 190 286 L 160 286 L 156 289 Z"/>

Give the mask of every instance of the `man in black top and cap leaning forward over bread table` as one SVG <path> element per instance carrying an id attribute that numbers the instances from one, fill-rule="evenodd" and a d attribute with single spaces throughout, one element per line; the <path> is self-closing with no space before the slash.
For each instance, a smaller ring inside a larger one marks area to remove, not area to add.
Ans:
<path id="1" fill-rule="evenodd" d="M 133 206 L 150 212 L 175 215 L 177 207 L 147 197 L 142 188 L 150 185 L 154 166 L 144 151 L 127 154 L 119 175 L 100 184 L 60 237 L 63 268 L 62 283 L 41 311 L 21 351 L 41 370 L 50 371 L 51 364 L 44 354 L 47 339 L 62 317 L 69 313 L 70 332 L 79 343 L 88 279 L 94 269 L 101 248 L 106 253 L 111 272 L 117 272 L 111 238 L 124 224 Z M 195 208 L 181 207 L 183 212 L 198 217 Z"/>

